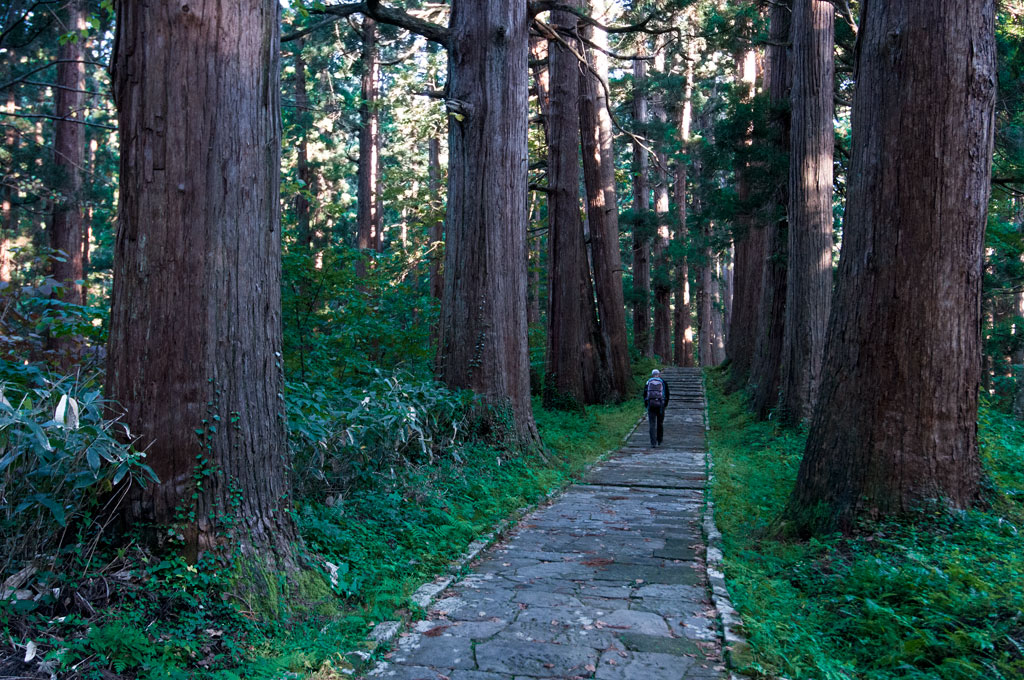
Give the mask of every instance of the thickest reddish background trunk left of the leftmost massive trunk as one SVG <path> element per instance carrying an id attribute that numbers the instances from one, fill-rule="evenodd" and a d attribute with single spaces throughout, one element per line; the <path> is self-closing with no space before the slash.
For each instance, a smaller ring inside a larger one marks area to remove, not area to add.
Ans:
<path id="1" fill-rule="evenodd" d="M 80 0 L 67 6 L 68 27 L 84 28 Z M 81 37 L 69 40 L 57 50 L 56 107 L 53 123 L 53 164 L 56 168 L 56 197 L 50 223 L 50 247 L 54 251 L 53 279 L 62 287 L 60 299 L 82 304 L 82 166 L 85 162 L 83 96 L 85 63 Z M 67 346 L 67 343 L 61 342 Z"/>

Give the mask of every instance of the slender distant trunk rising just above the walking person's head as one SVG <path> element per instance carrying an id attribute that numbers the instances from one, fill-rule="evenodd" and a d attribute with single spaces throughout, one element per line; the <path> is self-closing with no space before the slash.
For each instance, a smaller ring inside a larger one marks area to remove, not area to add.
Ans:
<path id="1" fill-rule="evenodd" d="M 658 45 L 654 54 L 654 71 L 665 74 L 665 48 Z M 666 128 L 669 115 L 665 110 L 665 94 L 656 92 L 651 99 L 651 113 L 658 122 L 662 137 L 655 151 L 654 168 L 654 271 L 651 288 L 654 291 L 654 354 L 663 362 L 672 358 L 672 267 L 669 263 L 669 157 L 665 153 Z"/>

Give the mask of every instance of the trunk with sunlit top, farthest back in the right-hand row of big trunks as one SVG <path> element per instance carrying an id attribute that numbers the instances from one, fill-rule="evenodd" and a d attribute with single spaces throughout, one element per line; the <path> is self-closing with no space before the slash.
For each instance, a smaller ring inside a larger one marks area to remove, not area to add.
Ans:
<path id="1" fill-rule="evenodd" d="M 757 84 L 757 58 L 753 50 L 741 53 L 736 58 L 737 78 L 743 83 L 743 103 L 750 105 Z M 751 205 L 751 174 L 755 172 L 750 160 L 750 150 L 754 143 L 754 121 L 745 121 L 746 128 L 742 141 L 736 148 L 736 200 L 738 213 L 735 218 L 733 243 L 733 300 L 729 315 L 729 380 L 726 391 L 733 392 L 746 385 L 754 360 L 754 345 L 758 334 L 758 305 L 761 302 L 762 270 L 765 261 L 764 224 L 754 217 Z M 762 171 L 763 168 L 757 168 Z"/>

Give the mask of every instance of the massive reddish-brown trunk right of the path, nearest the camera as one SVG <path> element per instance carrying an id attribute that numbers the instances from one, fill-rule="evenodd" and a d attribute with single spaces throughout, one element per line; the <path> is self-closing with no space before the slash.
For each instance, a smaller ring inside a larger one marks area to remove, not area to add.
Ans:
<path id="1" fill-rule="evenodd" d="M 788 509 L 801 527 L 977 498 L 994 4 L 862 15 L 836 308 Z"/>

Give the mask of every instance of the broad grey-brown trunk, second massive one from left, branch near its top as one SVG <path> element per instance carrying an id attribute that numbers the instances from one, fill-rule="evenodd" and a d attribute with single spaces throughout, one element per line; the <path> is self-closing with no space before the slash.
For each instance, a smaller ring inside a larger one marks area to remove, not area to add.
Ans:
<path id="1" fill-rule="evenodd" d="M 440 375 L 537 440 L 526 348 L 528 26 L 517 0 L 452 4 Z"/>

